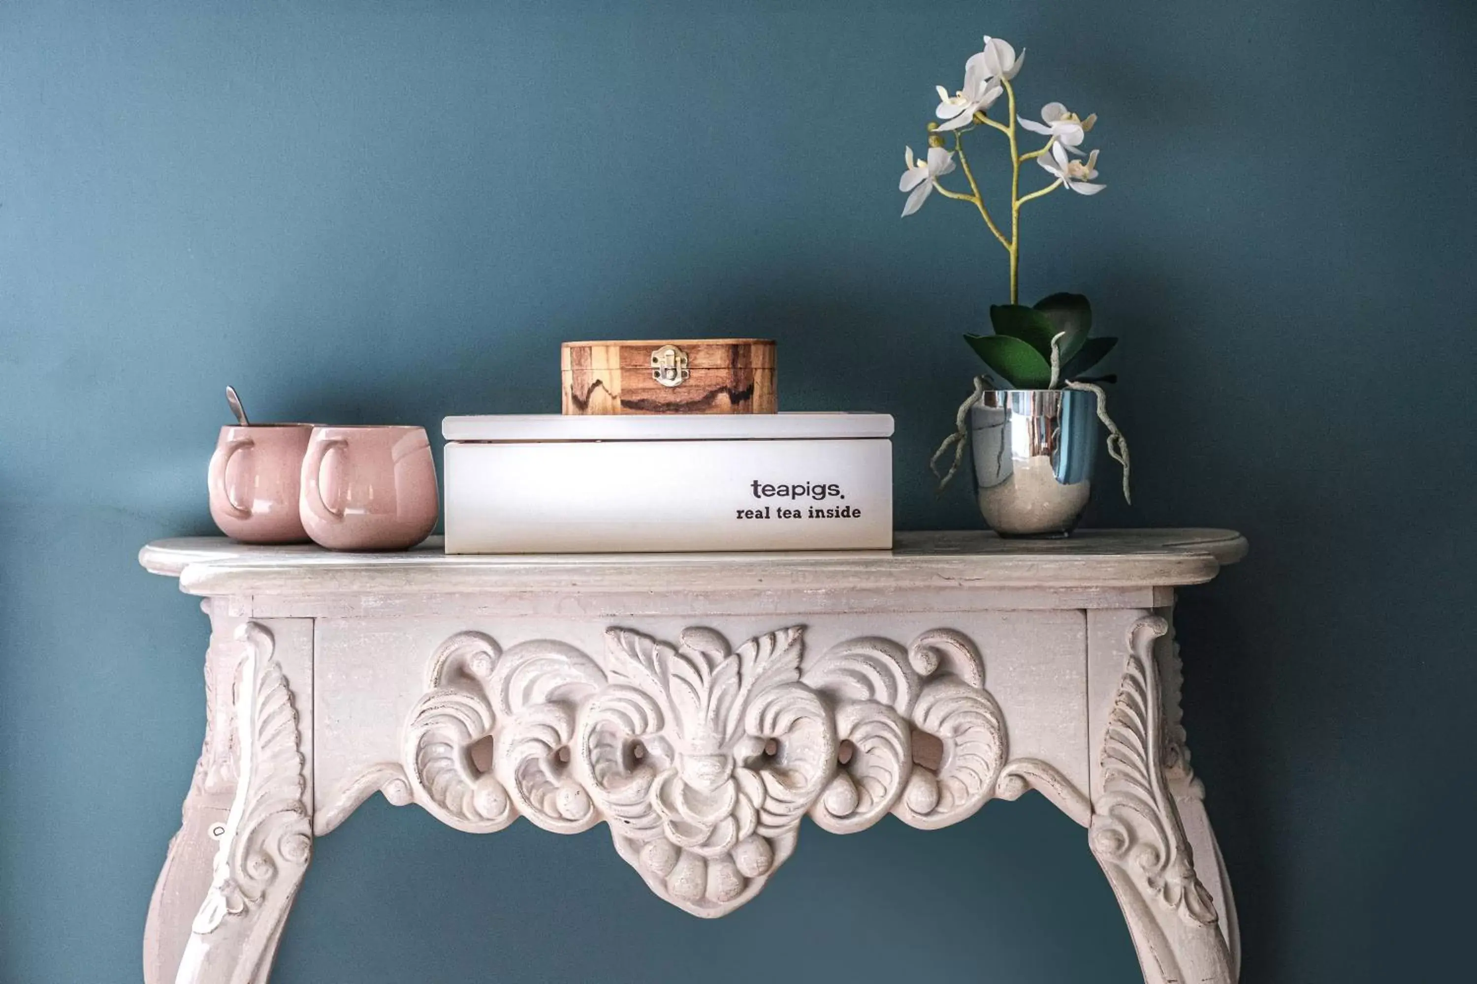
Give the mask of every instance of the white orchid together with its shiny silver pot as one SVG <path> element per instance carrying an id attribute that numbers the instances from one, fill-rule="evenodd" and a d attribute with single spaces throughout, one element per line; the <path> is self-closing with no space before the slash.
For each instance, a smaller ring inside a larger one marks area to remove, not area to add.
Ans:
<path id="1" fill-rule="evenodd" d="M 964 62 L 964 83 L 950 94 L 938 86 L 936 121 L 928 124 L 925 156 L 907 148 L 907 170 L 898 189 L 907 193 L 902 215 L 911 215 L 938 192 L 967 202 L 991 238 L 1006 251 L 1010 302 L 993 304 L 993 335 L 964 335 L 985 363 L 973 392 L 960 404 L 956 431 L 933 454 L 932 466 L 953 450 L 939 488 L 959 471 L 966 443 L 973 450 L 979 509 L 1003 536 L 1068 534 L 1087 506 L 1097 448 L 1097 420 L 1108 429 L 1108 453 L 1123 465 L 1123 494 L 1128 499 L 1128 446 L 1106 412 L 1102 385 L 1115 376 L 1089 375 L 1112 351 L 1117 338 L 1093 338 L 1092 305 L 1080 294 L 1052 294 L 1034 305 L 1019 302 L 1021 212 L 1028 202 L 1060 189 L 1092 196 L 1097 181 L 1097 150 L 1083 145 L 1097 115 L 1083 118 L 1059 102 L 1041 108 L 1040 119 L 1016 114 L 1015 78 L 1025 65 L 1007 41 L 985 37 L 984 50 Z M 1003 112 L 1001 112 L 1003 106 Z M 990 133 L 994 131 L 994 133 Z M 1022 131 L 1046 143 L 1022 150 Z M 1009 223 L 991 214 L 964 150 L 966 137 L 994 139 L 1007 153 L 1010 174 Z M 1037 164 L 1044 184 L 1022 193 L 1022 165 Z M 963 173 L 969 190 L 941 179 Z M 1009 230 L 1009 233 L 1006 232 Z"/>

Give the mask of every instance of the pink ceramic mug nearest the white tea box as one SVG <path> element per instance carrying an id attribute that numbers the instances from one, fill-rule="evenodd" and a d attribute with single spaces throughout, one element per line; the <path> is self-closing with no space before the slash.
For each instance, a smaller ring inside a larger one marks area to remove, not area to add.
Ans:
<path id="1" fill-rule="evenodd" d="M 331 550 L 403 550 L 436 528 L 425 428 L 319 426 L 303 459 L 307 536 Z"/>

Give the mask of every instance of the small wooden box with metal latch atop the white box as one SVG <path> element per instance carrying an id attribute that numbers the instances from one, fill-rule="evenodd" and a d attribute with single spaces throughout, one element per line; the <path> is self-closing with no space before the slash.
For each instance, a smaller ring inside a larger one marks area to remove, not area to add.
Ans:
<path id="1" fill-rule="evenodd" d="M 770 339 L 564 342 L 560 364 L 569 415 L 778 410 Z"/>

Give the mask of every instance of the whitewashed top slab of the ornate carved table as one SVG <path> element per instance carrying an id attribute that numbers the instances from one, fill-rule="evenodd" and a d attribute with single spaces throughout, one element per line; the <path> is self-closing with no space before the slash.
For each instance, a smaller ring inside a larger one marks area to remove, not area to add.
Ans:
<path id="1" fill-rule="evenodd" d="M 970 530 L 898 533 L 892 550 L 784 553 L 448 555 L 440 537 L 396 553 L 337 553 L 313 544 L 182 537 L 148 544 L 139 562 L 179 577 L 195 595 L 879 583 L 1050 589 L 1199 584 L 1245 553 L 1245 538 L 1230 530 L 1084 530 L 1040 540 Z"/>

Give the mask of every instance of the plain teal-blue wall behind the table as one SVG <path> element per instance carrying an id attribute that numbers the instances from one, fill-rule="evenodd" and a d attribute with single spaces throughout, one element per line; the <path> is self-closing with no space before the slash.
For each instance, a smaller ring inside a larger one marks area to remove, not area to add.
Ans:
<path id="1" fill-rule="evenodd" d="M 208 531 L 226 382 L 434 429 L 557 410 L 561 339 L 772 335 L 786 407 L 897 415 L 899 525 L 976 525 L 923 460 L 1004 266 L 895 189 L 985 31 L 1102 115 L 1109 190 L 1037 204 L 1022 274 L 1124 338 L 1096 522 L 1252 541 L 1182 611 L 1245 980 L 1468 968 L 1477 4 L 245 6 L 0 6 L 0 978 L 137 980 L 205 623 L 134 552 Z M 375 798 L 273 980 L 1137 980 L 1038 797 L 803 839 L 707 924 L 603 828 Z"/>

